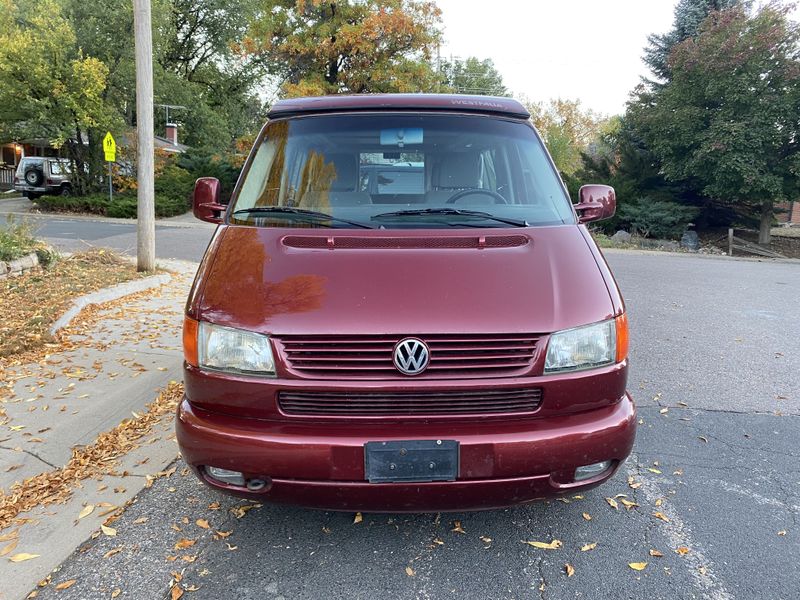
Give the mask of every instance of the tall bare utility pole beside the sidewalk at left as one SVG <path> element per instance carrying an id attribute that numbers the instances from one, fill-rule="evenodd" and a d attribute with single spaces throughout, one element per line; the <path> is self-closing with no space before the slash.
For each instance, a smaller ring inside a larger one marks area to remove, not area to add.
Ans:
<path id="1" fill-rule="evenodd" d="M 153 27 L 150 0 L 133 0 L 136 35 L 136 132 L 137 143 L 137 245 L 136 269 L 156 267 L 156 217 L 153 150 Z"/>

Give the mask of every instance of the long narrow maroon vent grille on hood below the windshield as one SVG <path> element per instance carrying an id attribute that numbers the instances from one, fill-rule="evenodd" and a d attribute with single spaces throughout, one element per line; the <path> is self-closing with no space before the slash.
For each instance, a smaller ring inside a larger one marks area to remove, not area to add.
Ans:
<path id="1" fill-rule="evenodd" d="M 329 250 L 428 250 L 439 248 L 482 249 L 516 248 L 530 243 L 524 235 L 440 236 L 440 237 L 359 237 L 287 235 L 289 248 Z"/>

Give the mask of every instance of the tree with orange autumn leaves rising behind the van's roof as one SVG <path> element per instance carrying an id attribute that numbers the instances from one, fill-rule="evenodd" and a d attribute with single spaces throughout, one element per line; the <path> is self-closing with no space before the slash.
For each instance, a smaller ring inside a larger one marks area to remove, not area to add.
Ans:
<path id="1" fill-rule="evenodd" d="M 432 91 L 439 22 L 430 0 L 262 0 L 241 49 L 287 96 Z"/>

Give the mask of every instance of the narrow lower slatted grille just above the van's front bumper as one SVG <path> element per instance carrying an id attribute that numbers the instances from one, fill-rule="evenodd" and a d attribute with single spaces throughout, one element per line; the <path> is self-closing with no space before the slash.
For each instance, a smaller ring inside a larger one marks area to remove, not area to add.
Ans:
<path id="1" fill-rule="evenodd" d="M 539 408 L 539 388 L 418 392 L 290 392 L 278 394 L 290 415 L 409 416 L 530 413 Z"/>

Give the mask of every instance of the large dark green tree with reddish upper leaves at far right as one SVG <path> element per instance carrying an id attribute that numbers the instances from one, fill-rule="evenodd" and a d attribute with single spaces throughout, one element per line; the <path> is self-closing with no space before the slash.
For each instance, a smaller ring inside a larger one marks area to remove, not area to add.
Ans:
<path id="1" fill-rule="evenodd" d="M 640 88 L 629 112 L 671 181 L 759 223 L 800 185 L 800 29 L 767 5 L 714 12 L 670 54 L 671 81 Z"/>

